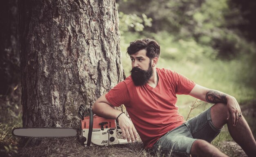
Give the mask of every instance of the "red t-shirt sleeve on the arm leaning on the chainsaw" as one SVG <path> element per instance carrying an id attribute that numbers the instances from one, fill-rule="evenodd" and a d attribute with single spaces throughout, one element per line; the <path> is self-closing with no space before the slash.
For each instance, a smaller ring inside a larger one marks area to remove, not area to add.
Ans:
<path id="1" fill-rule="evenodd" d="M 105 97 L 111 105 L 116 107 L 130 101 L 129 92 L 124 81 L 119 82 L 115 87 L 113 87 Z"/>

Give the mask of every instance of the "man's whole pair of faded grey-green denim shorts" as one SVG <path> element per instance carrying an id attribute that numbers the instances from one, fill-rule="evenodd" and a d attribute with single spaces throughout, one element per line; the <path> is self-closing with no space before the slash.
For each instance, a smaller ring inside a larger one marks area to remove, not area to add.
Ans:
<path id="1" fill-rule="evenodd" d="M 189 157 L 192 144 L 197 139 L 211 141 L 221 129 L 213 126 L 211 108 L 167 132 L 152 147 L 157 156 Z"/>

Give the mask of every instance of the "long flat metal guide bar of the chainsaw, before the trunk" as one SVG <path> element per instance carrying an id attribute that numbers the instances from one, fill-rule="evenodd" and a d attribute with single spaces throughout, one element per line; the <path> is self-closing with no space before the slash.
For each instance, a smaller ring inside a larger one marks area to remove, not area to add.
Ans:
<path id="1" fill-rule="evenodd" d="M 12 134 L 17 137 L 39 139 L 61 139 L 78 137 L 77 128 L 43 127 L 43 128 L 13 128 Z"/>

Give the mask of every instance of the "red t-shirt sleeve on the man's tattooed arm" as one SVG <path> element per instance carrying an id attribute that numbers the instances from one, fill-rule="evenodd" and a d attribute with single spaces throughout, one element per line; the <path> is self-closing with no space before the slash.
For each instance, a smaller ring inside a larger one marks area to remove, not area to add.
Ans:
<path id="1" fill-rule="evenodd" d="M 186 76 L 178 74 L 177 72 L 175 72 L 174 76 L 176 79 L 176 94 L 189 94 L 195 87 L 195 82 L 186 78 Z"/>

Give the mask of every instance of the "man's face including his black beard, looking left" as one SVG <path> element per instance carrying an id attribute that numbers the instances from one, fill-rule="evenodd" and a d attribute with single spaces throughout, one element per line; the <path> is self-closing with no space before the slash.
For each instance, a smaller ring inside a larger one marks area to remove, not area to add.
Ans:
<path id="1" fill-rule="evenodd" d="M 142 49 L 130 55 L 132 60 L 131 76 L 136 86 L 145 85 L 153 75 L 150 58 L 146 56 L 146 50 Z"/>

